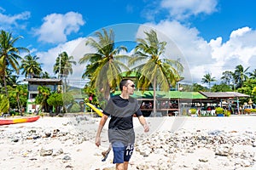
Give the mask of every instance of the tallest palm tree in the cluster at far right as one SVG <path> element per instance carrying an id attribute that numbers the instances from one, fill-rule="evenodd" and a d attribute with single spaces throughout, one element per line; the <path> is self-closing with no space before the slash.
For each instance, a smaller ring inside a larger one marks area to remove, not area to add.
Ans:
<path id="1" fill-rule="evenodd" d="M 247 74 L 249 74 L 248 71 L 249 67 L 246 69 L 243 68 L 242 65 L 236 65 L 236 70 L 234 71 L 234 79 L 236 82 L 236 88 L 242 88 L 243 82 L 245 82 L 248 77 Z"/>

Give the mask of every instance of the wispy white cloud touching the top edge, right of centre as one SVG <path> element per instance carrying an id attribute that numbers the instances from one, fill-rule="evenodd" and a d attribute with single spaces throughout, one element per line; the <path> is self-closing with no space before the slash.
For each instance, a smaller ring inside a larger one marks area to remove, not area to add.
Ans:
<path id="1" fill-rule="evenodd" d="M 161 8 L 166 8 L 172 18 L 183 20 L 191 15 L 212 14 L 217 11 L 217 0 L 162 0 Z"/>

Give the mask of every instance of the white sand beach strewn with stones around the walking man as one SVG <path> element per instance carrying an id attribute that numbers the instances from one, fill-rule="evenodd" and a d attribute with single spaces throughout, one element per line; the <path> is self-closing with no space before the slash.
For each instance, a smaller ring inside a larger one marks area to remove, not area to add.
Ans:
<path id="1" fill-rule="evenodd" d="M 256 116 L 147 117 L 149 133 L 134 118 L 136 146 L 129 169 L 256 169 Z M 108 125 L 94 144 L 99 117 L 41 117 L 0 126 L 0 167 L 9 169 L 114 169 Z"/>

